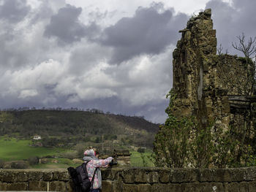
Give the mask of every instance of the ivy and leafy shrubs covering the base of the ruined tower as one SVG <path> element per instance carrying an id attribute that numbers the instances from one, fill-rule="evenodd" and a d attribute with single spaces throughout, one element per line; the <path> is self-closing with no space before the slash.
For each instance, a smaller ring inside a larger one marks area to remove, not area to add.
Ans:
<path id="1" fill-rule="evenodd" d="M 156 166 L 181 167 L 238 167 L 252 166 L 252 147 L 236 137 L 235 130 L 227 130 L 209 123 L 201 128 L 193 116 L 178 118 L 173 115 L 173 90 L 167 95 L 170 104 L 167 120 L 159 128 L 154 140 Z"/>

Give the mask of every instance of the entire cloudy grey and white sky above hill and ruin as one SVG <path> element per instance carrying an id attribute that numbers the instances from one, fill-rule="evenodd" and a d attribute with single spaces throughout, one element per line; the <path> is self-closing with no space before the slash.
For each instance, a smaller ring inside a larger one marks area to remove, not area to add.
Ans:
<path id="1" fill-rule="evenodd" d="M 212 9 L 218 44 L 256 36 L 255 0 L 0 0 L 0 108 L 78 107 L 163 123 L 178 30 Z"/>

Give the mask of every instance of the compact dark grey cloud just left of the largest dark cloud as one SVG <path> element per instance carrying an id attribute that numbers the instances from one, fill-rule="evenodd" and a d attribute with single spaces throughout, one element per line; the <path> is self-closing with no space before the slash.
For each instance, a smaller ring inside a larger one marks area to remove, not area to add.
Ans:
<path id="1" fill-rule="evenodd" d="M 57 37 L 65 43 L 80 41 L 85 36 L 93 37 L 99 31 L 99 26 L 95 23 L 91 23 L 89 26 L 83 25 L 78 20 L 81 12 L 82 8 L 69 4 L 59 9 L 59 12 L 51 17 L 49 25 L 45 28 L 45 37 Z"/>

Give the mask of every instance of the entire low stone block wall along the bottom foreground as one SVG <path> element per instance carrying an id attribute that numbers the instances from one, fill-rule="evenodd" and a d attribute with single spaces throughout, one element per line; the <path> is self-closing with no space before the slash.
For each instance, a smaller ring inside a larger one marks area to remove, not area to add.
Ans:
<path id="1" fill-rule="evenodd" d="M 238 169 L 102 169 L 102 192 L 256 191 L 256 167 Z M 66 169 L 0 170 L 0 191 L 72 191 Z"/>

